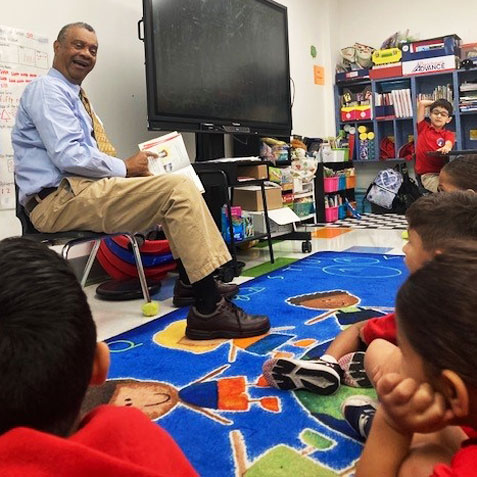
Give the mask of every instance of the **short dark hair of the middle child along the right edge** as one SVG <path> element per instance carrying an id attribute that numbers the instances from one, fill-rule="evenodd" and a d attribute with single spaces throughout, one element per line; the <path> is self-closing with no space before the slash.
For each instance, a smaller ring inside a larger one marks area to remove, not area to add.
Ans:
<path id="1" fill-rule="evenodd" d="M 477 194 L 453 191 L 425 195 L 411 204 L 406 218 L 427 251 L 450 239 L 477 240 Z"/>

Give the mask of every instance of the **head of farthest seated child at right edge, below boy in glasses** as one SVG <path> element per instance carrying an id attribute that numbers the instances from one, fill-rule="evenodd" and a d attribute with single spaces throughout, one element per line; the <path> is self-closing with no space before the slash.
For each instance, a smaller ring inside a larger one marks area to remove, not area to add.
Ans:
<path id="1" fill-rule="evenodd" d="M 439 173 L 439 191 L 477 191 L 477 154 L 457 156 Z"/>

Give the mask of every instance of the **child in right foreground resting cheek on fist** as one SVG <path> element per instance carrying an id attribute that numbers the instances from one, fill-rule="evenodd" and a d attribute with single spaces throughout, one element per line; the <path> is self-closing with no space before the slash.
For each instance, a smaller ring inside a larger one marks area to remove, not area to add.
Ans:
<path id="1" fill-rule="evenodd" d="M 380 405 L 356 477 L 475 475 L 476 280 L 468 242 L 449 244 L 402 285 L 400 370 L 374 376 Z"/>

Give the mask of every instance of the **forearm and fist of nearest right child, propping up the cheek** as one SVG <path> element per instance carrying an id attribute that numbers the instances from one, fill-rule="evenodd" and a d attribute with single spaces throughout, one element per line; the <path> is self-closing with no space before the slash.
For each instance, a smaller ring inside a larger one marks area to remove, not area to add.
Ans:
<path id="1" fill-rule="evenodd" d="M 373 420 L 356 477 L 397 476 L 409 454 L 413 434 L 442 429 L 454 417 L 452 411 L 446 409 L 443 396 L 427 383 L 418 384 L 411 378 L 387 374 L 378 380 L 376 390 L 381 406 Z"/>

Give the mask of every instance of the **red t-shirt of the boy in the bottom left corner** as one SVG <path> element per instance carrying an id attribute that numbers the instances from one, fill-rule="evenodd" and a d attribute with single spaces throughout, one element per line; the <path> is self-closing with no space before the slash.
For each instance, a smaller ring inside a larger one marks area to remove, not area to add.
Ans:
<path id="1" fill-rule="evenodd" d="M 0 436 L 2 477 L 196 477 L 172 437 L 132 407 L 100 406 L 69 438 L 17 427 Z"/>

